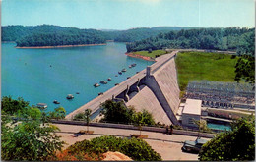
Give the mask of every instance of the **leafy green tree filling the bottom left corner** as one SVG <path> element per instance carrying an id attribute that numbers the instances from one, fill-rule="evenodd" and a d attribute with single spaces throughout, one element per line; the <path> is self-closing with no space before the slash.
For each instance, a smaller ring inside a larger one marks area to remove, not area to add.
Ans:
<path id="1" fill-rule="evenodd" d="M 3 119 L 3 118 L 2 118 Z M 40 126 L 38 120 L 23 120 L 12 125 L 2 120 L 1 156 L 3 160 L 41 161 L 54 156 L 64 142 L 54 132 L 56 127 Z M 11 127 L 9 127 L 11 125 Z"/>

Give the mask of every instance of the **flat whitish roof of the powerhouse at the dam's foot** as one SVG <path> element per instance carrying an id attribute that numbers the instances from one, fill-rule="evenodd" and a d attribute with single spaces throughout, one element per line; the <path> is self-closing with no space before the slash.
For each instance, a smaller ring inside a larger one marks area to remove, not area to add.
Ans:
<path id="1" fill-rule="evenodd" d="M 185 107 L 183 109 L 183 113 L 201 115 L 201 104 L 202 104 L 202 100 L 187 99 L 185 103 Z"/>

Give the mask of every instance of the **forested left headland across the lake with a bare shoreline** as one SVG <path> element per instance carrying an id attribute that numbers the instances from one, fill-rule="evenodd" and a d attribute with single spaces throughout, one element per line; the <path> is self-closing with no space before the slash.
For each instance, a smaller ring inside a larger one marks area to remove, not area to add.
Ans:
<path id="1" fill-rule="evenodd" d="M 106 41 L 104 32 L 58 26 L 2 27 L 2 41 L 16 41 L 19 47 L 99 44 Z"/>

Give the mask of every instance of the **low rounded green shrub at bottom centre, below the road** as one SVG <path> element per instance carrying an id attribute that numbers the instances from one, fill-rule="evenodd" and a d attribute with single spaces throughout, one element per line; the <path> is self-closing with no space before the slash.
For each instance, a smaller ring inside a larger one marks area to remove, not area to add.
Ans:
<path id="1" fill-rule="evenodd" d="M 136 161 L 160 161 L 160 154 L 142 139 L 100 136 L 76 142 L 67 148 L 69 153 L 100 154 L 107 151 L 119 151 Z"/>

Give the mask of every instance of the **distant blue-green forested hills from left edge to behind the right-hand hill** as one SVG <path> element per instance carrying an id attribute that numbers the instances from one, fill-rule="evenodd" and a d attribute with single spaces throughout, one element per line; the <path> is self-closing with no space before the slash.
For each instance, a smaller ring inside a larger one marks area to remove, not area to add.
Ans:
<path id="1" fill-rule="evenodd" d="M 17 46 L 56 46 L 98 44 L 105 40 L 134 42 L 146 39 L 170 30 L 190 29 L 191 27 L 152 27 L 128 30 L 96 30 L 75 27 L 41 25 L 34 27 L 2 27 L 2 41 L 16 41 Z"/>

